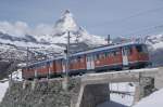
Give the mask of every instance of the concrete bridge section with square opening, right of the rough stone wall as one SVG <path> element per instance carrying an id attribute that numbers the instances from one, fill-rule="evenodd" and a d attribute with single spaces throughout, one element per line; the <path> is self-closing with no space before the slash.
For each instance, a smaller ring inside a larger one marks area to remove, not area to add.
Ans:
<path id="1" fill-rule="evenodd" d="M 80 78 L 80 90 L 77 102 L 72 107 L 96 107 L 97 104 L 110 99 L 109 83 L 136 82 L 135 101 L 150 94 L 146 93 L 146 86 L 150 85 L 151 92 L 156 88 L 160 68 L 125 70 L 118 72 L 88 73 Z M 155 82 L 155 83 L 154 83 Z M 75 98 L 76 99 L 76 98 Z M 73 98 L 72 98 L 73 101 Z"/>

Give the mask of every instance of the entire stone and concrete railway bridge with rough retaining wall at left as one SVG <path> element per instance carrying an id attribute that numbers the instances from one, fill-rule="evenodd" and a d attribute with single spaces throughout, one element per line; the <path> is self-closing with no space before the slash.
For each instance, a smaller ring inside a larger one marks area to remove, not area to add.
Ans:
<path id="1" fill-rule="evenodd" d="M 0 107 L 96 107 L 110 99 L 109 83 L 135 82 L 134 104 L 163 88 L 163 68 L 87 73 L 65 80 L 12 81 Z M 14 106 L 15 105 L 15 106 Z M 18 105 L 18 106 L 17 106 Z"/>

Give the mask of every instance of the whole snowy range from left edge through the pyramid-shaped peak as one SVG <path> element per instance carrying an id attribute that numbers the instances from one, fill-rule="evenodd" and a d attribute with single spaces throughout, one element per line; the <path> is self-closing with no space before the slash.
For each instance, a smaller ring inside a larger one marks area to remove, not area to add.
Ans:
<path id="1" fill-rule="evenodd" d="M 40 30 L 40 34 L 38 34 L 39 30 L 37 30 L 37 34 L 30 34 L 30 31 L 24 36 L 15 36 L 16 31 L 13 31 L 14 34 L 11 35 L 11 28 L 10 31 L 8 31 L 4 25 L 9 24 L 2 24 L 2 26 L 0 26 L 0 58 L 2 59 L 14 57 L 25 61 L 27 46 L 29 48 L 29 53 L 32 54 L 29 56 L 32 57 L 38 54 L 46 54 L 47 56 L 63 55 L 67 43 L 67 31 L 70 31 L 71 35 L 71 48 L 73 52 L 106 43 L 104 38 L 90 35 L 86 29 L 78 26 L 68 10 L 55 22 L 53 28 L 48 29 L 48 32 L 41 32 Z M 25 28 L 21 29 L 20 27 L 21 26 L 18 26 L 17 31 L 23 34 Z M 45 30 L 47 29 L 46 26 L 40 27 L 43 27 Z"/>

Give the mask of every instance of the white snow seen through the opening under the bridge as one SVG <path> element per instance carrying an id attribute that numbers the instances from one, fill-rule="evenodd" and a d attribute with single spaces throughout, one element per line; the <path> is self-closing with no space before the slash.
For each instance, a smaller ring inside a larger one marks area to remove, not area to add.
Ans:
<path id="1" fill-rule="evenodd" d="M 110 98 L 111 102 L 105 102 L 97 107 L 128 107 L 133 105 L 134 101 L 134 93 L 135 93 L 135 84 L 129 82 L 121 82 L 121 83 L 111 83 L 110 90 L 111 91 L 120 91 L 120 92 L 129 92 L 131 95 L 122 95 L 111 93 Z"/>

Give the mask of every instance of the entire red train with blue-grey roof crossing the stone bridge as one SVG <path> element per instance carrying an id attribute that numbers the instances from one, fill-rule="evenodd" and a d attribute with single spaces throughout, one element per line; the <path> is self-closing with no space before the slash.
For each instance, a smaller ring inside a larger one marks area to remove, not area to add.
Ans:
<path id="1" fill-rule="evenodd" d="M 68 75 L 142 68 L 148 65 L 149 54 L 143 43 L 105 45 L 72 54 Z M 57 77 L 64 73 L 64 57 L 34 63 L 23 68 L 24 79 Z"/>

